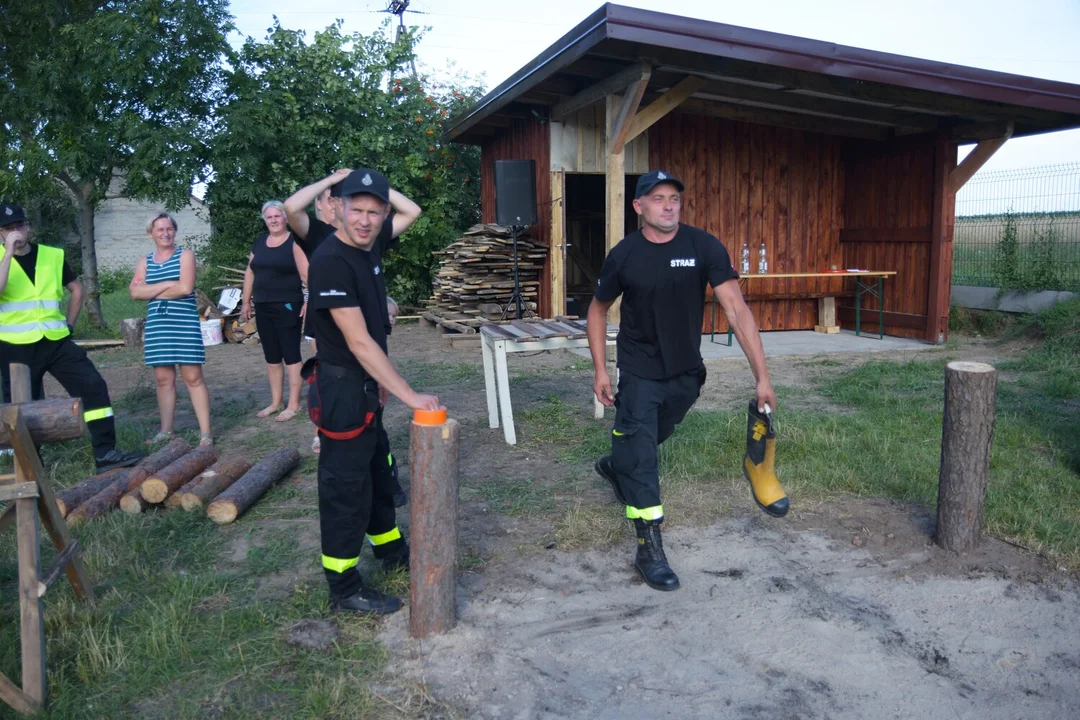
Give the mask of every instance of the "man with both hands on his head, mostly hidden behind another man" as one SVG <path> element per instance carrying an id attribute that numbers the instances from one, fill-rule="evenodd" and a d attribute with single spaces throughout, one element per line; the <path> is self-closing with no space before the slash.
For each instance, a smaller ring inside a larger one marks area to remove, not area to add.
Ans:
<path id="1" fill-rule="evenodd" d="M 296 247 L 298 248 L 296 252 L 303 253 L 305 256 L 310 258 L 319 245 L 337 231 L 339 222 L 336 217 L 336 208 L 341 203 L 341 180 L 351 172 L 349 169 L 335 171 L 318 182 L 312 182 L 305 188 L 300 188 L 285 201 L 285 216 L 288 219 L 288 226 L 293 230 L 294 236 L 298 241 L 296 243 Z M 379 232 L 379 236 L 370 249 L 370 257 L 375 262 L 375 282 L 381 287 L 383 295 L 386 295 L 387 282 L 386 275 L 382 272 L 382 256 L 387 250 L 397 245 L 397 237 L 413 227 L 413 223 L 416 222 L 421 213 L 419 205 L 393 188 L 390 189 L 389 196 L 390 217 L 387 222 L 382 223 L 382 230 Z M 315 204 L 314 217 L 308 215 L 308 206 L 312 202 Z M 307 282 L 307 271 L 303 269 L 302 261 L 299 258 L 297 259 L 297 267 L 300 268 L 301 277 Z M 389 303 L 384 310 L 382 320 L 387 335 L 389 336 L 393 331 L 394 325 L 390 320 Z M 390 436 L 382 424 L 382 405 L 386 405 L 387 393 L 381 389 L 379 392 L 381 405 L 375 418 L 376 432 L 379 436 L 379 447 L 376 453 L 379 461 L 377 472 L 389 476 L 390 481 L 394 485 L 394 505 L 402 507 L 408 502 L 408 495 L 405 494 L 405 490 L 402 489 L 401 484 L 397 481 L 397 461 L 394 459 L 393 452 L 390 451 Z M 320 452 L 322 449 L 322 440 L 319 438 L 318 433 L 312 449 L 316 452 Z"/>

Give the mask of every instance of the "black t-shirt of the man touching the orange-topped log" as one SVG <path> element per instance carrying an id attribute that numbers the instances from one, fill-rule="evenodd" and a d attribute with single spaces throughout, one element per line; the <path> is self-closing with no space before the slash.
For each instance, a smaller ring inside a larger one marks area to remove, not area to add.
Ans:
<path id="1" fill-rule="evenodd" d="M 332 308 L 360 308 L 368 334 L 386 352 L 387 291 L 375 282 L 379 276 L 376 260 L 374 252 L 347 245 L 337 237 L 321 243 L 311 256 L 308 311 L 314 318 L 311 335 L 319 344 L 319 359 L 345 367 L 362 367 L 334 322 Z"/>

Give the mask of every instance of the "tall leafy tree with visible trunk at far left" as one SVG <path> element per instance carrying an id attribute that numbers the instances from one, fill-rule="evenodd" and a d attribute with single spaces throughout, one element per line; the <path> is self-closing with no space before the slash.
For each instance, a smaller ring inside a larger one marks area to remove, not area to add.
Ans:
<path id="1" fill-rule="evenodd" d="M 0 3 L 0 194 L 78 209 L 91 318 L 103 324 L 94 210 L 110 185 L 177 208 L 206 168 L 227 0 Z"/>

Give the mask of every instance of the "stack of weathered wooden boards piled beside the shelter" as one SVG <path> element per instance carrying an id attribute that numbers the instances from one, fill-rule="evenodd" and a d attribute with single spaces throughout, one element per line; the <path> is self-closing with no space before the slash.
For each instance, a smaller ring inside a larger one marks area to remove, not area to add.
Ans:
<path id="1" fill-rule="evenodd" d="M 477 327 L 502 317 L 514 293 L 514 241 L 510 228 L 475 225 L 443 250 L 428 312 L 440 320 Z M 536 311 L 548 248 L 517 237 L 517 275 L 526 308 Z"/>

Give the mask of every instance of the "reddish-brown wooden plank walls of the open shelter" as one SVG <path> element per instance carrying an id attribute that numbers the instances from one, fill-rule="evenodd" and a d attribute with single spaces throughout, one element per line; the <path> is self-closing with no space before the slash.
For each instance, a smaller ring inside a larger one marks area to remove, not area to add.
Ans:
<path id="1" fill-rule="evenodd" d="M 495 161 L 534 159 L 534 234 L 549 246 L 562 243 L 564 174 L 604 172 L 604 114 L 597 104 L 565 123 L 515 119 L 498 128 L 482 146 L 484 221 L 495 221 Z M 627 144 L 625 158 L 626 174 L 663 167 L 681 178 L 683 220 L 720 237 L 737 267 L 747 242 L 752 272 L 762 243 L 770 273 L 832 266 L 894 270 L 885 283 L 886 332 L 944 339 L 955 200 L 947 176 L 956 165 L 956 145 L 944 136 L 874 142 L 675 111 Z M 544 316 L 562 312 L 563 273 L 562 253 L 553 246 L 541 284 Z M 851 283 L 751 281 L 746 293 L 762 330 L 811 329 L 815 298 L 850 290 Z M 853 303 L 850 297 L 838 301 L 839 321 L 849 328 Z M 864 310 L 877 307 L 864 298 Z M 716 329 L 726 330 L 726 318 L 717 315 Z M 934 318 L 929 325 L 928 316 Z M 703 331 L 708 321 L 706 314 Z M 863 328 L 877 329 L 876 312 L 863 314 Z"/>

